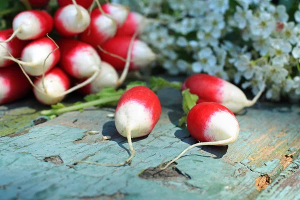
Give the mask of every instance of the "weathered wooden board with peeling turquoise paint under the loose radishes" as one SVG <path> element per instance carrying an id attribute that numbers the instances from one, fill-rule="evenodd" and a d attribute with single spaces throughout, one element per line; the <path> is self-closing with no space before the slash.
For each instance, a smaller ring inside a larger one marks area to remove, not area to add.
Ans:
<path id="1" fill-rule="evenodd" d="M 161 118 L 148 136 L 133 139 L 131 165 L 74 165 L 74 160 L 118 163 L 128 157 L 126 138 L 106 116 L 112 108 L 65 113 L 1 137 L 0 199 L 283 199 L 275 183 L 299 154 L 298 106 L 257 103 L 237 116 L 240 134 L 235 143 L 191 149 L 175 168 L 159 172 L 152 167 L 196 141 L 185 128 L 176 127 L 182 114 L 180 93 L 164 89 L 158 96 Z M 102 139 L 104 135 L 111 139 Z M 299 174 L 285 176 L 294 173 Z M 289 180 L 300 184 L 295 177 Z M 285 192 L 288 184 L 284 178 L 278 181 Z"/>

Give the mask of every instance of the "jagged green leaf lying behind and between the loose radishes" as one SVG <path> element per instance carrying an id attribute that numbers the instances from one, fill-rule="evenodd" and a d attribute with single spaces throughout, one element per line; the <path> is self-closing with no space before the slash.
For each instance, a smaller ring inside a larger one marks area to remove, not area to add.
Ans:
<path id="1" fill-rule="evenodd" d="M 159 89 L 168 88 L 168 87 L 173 87 L 175 89 L 180 90 L 181 86 L 182 86 L 181 82 L 170 82 L 163 79 L 162 77 L 151 76 L 150 78 L 150 89 L 154 92 L 156 92 Z"/>

